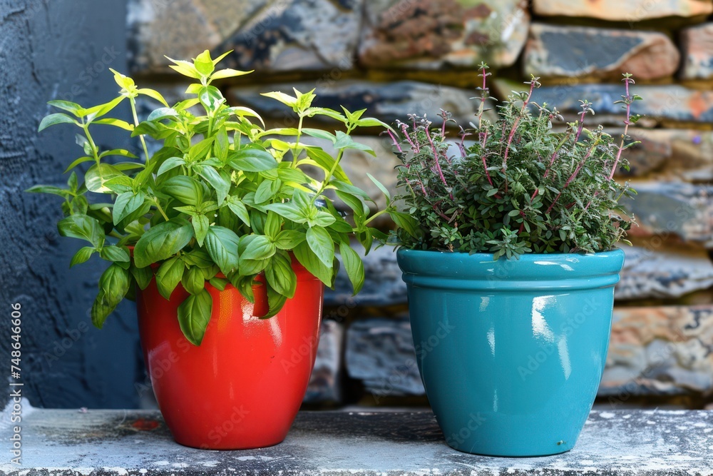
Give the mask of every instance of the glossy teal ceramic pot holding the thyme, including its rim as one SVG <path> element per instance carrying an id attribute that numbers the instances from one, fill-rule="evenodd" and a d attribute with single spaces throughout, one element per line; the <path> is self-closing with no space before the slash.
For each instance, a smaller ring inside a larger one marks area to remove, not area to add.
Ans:
<path id="1" fill-rule="evenodd" d="M 400 249 L 416 357 L 456 450 L 571 450 L 604 371 L 622 250 L 590 255 Z"/>

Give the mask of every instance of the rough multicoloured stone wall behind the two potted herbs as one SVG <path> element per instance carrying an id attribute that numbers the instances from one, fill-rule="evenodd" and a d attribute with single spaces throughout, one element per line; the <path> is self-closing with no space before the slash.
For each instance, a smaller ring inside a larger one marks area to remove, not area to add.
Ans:
<path id="1" fill-rule="evenodd" d="M 612 405 L 642 397 L 702 405 L 713 390 L 712 14 L 713 0 L 130 0 L 130 67 L 178 98 L 183 84 L 164 54 L 233 49 L 229 66 L 255 74 L 225 81 L 227 97 L 284 126 L 294 118 L 260 91 L 316 87 L 320 105 L 365 107 L 387 122 L 439 108 L 467 121 L 475 68 L 486 61 L 496 96 L 535 74 L 543 83 L 535 101 L 573 118 L 586 98 L 616 128 L 622 111 L 612 103 L 631 72 L 645 98 L 634 112 L 645 118 L 620 179 L 640 191 L 627 203 L 640 227 L 625 250 L 600 395 Z M 352 152 L 345 166 L 393 186 L 389 142 L 360 140 L 376 159 Z M 370 253 L 366 269 L 361 295 L 350 298 L 340 278 L 327 296 L 308 400 L 423 403 L 394 254 Z"/>

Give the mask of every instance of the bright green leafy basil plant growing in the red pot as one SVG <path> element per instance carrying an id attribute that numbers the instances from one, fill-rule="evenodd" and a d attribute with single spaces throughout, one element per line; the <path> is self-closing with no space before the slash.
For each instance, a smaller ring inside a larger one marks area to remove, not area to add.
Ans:
<path id="1" fill-rule="evenodd" d="M 35 186 L 29 191 L 64 199 L 59 233 L 88 242 L 73 256 L 71 266 L 94 254 L 111 263 L 101 275 L 91 309 L 98 328 L 123 298 L 133 297 L 136 285 L 143 290 L 155 278 L 166 299 L 179 283 L 188 291 L 177 317 L 185 337 L 200 345 L 212 308 L 206 283 L 219 290 L 233 285 L 251 302 L 253 285 L 265 285 L 269 312 L 262 317 L 270 318 L 294 295 L 292 260 L 332 286 L 337 252 L 356 294 L 364 283 L 364 266 L 350 247 L 350 238 L 356 237 L 368 253 L 375 238 L 386 238 L 370 226 L 376 216 L 389 213 L 399 221 L 408 219 L 394 211 L 379 183 L 389 205 L 371 213 L 366 205 L 371 198 L 340 166 L 347 148 L 374 155 L 352 139 L 352 131 L 359 126 L 386 127 L 384 123 L 362 117 L 364 111 L 313 107 L 312 91 L 294 90 L 294 96 L 264 96 L 292 109 L 299 119 L 297 128 L 265 128 L 255 111 L 228 106 L 212 85 L 246 74 L 216 70 L 226 55 L 211 59 L 204 51 L 193 62 L 170 60 L 171 68 L 195 80 L 185 91 L 189 98 L 173 106 L 158 91 L 138 88 L 133 79 L 113 70 L 120 87 L 113 101 L 90 108 L 49 101 L 64 112 L 43 118 L 39 131 L 61 123 L 76 127 L 83 155 L 66 169 L 71 171 L 66 188 Z M 136 113 L 139 96 L 160 103 L 145 121 Z M 133 123 L 110 117 L 122 103 L 130 106 Z M 303 127 L 303 119 L 313 116 L 334 119 L 339 130 Z M 138 138 L 145 160 L 124 149 L 99 148 L 91 132 L 107 126 Z M 303 143 L 305 135 L 330 143 L 336 156 Z M 150 141 L 155 146 L 149 148 Z M 334 207 L 333 196 L 352 209 L 349 221 Z"/>

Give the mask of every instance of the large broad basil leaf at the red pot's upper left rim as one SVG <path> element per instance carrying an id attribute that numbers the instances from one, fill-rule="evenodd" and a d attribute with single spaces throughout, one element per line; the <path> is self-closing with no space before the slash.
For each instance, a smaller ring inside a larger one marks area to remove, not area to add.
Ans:
<path id="1" fill-rule="evenodd" d="M 134 263 L 145 268 L 182 250 L 193 238 L 193 226 L 185 218 L 172 218 L 144 233 L 134 248 Z"/>

